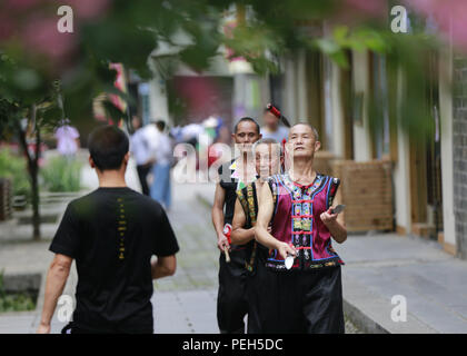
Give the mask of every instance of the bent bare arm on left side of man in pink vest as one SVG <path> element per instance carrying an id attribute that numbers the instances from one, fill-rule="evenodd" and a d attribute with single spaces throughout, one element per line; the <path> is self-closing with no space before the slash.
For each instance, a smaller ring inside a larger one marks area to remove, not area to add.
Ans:
<path id="1" fill-rule="evenodd" d="M 295 249 L 286 243 L 279 241 L 268 233 L 268 225 L 272 218 L 274 199 L 269 189 L 269 185 L 265 184 L 261 188 L 258 205 L 258 219 L 256 221 L 255 236 L 256 240 L 269 248 L 277 249 L 282 258 L 287 255 L 296 255 Z"/>

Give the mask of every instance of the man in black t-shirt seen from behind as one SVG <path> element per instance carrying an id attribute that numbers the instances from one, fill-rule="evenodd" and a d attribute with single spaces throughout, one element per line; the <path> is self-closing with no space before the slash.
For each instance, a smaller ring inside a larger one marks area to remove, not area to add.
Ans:
<path id="1" fill-rule="evenodd" d="M 50 333 L 73 259 L 77 306 L 62 333 L 153 333 L 152 279 L 175 274 L 179 247 L 162 207 L 127 187 L 128 148 L 116 127 L 90 135 L 89 162 L 99 188 L 68 205 L 50 245 L 56 256 L 38 333 Z"/>

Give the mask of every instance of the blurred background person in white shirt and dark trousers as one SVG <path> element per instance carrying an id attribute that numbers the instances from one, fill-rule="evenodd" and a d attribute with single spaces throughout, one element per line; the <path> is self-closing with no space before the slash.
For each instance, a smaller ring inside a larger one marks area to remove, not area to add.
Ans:
<path id="1" fill-rule="evenodd" d="M 139 117 L 133 116 L 131 123 L 135 132 L 130 137 L 130 151 L 137 164 L 141 192 L 145 196 L 149 196 L 148 174 L 152 168 L 150 140 L 148 139 L 148 135 L 146 135 Z"/>

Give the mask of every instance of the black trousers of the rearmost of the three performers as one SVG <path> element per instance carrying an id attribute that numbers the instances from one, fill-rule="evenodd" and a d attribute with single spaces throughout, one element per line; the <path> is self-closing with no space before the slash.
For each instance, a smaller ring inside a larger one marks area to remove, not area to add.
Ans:
<path id="1" fill-rule="evenodd" d="M 245 250 L 230 251 L 230 263 L 226 263 L 225 255 L 220 254 L 217 324 L 221 334 L 245 334 L 244 318 L 248 313 L 246 281 Z"/>

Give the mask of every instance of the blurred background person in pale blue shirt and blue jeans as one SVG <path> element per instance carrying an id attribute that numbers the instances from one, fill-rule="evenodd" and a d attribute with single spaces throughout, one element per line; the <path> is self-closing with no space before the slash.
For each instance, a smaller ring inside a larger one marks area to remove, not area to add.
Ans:
<path id="1" fill-rule="evenodd" d="M 172 142 L 168 134 L 163 130 L 166 122 L 159 120 L 156 122 L 159 130 L 157 149 L 155 150 L 155 166 L 152 168 L 151 198 L 163 205 L 166 210 L 171 206 L 170 168 L 173 159 Z"/>

